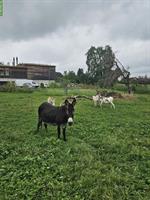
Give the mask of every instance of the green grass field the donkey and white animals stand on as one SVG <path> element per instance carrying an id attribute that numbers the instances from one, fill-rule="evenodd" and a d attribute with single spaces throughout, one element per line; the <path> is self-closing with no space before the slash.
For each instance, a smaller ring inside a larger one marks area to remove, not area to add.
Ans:
<path id="1" fill-rule="evenodd" d="M 64 142 L 54 126 L 35 133 L 49 95 L 65 98 L 61 89 L 0 93 L 0 200 L 149 200 L 150 96 L 115 100 L 115 110 L 80 100 Z"/>

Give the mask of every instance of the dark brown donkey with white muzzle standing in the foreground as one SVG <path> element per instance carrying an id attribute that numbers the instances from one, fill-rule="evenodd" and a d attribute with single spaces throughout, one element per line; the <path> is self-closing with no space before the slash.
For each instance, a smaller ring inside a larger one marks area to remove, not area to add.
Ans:
<path id="1" fill-rule="evenodd" d="M 61 128 L 63 131 L 63 139 L 66 141 L 66 127 L 67 124 L 71 126 L 74 118 L 74 106 L 76 104 L 76 98 L 70 102 L 68 99 L 65 100 L 62 106 L 53 106 L 48 102 L 44 102 L 39 106 L 38 109 L 38 124 L 37 131 L 44 122 L 45 129 L 47 131 L 47 124 L 53 124 L 57 126 L 58 138 L 60 138 Z"/>

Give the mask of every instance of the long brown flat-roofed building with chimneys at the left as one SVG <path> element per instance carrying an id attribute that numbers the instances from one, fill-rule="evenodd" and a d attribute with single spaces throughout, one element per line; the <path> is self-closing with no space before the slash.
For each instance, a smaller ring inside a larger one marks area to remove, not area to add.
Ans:
<path id="1" fill-rule="evenodd" d="M 35 80 L 38 83 L 48 83 L 55 81 L 55 70 L 55 65 L 19 63 L 18 57 L 13 57 L 12 65 L 0 63 L 0 82 L 28 79 Z"/>

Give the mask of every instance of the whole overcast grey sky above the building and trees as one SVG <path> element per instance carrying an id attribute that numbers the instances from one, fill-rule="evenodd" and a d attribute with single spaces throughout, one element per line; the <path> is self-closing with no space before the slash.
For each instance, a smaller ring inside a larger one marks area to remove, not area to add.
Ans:
<path id="1" fill-rule="evenodd" d="M 110 45 L 132 76 L 150 76 L 149 19 L 150 0 L 4 0 L 0 61 L 86 71 L 88 49 Z"/>

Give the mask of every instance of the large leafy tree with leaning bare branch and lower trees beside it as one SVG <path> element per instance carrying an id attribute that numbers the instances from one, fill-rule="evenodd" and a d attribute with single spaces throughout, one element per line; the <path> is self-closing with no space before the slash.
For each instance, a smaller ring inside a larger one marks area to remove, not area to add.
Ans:
<path id="1" fill-rule="evenodd" d="M 65 71 L 63 80 L 66 84 L 69 82 L 96 84 L 100 87 L 109 88 L 118 81 L 118 78 L 121 78 L 122 83 L 127 86 L 128 92 L 131 92 L 130 72 L 116 58 L 115 53 L 109 45 L 97 48 L 91 46 L 85 55 L 87 71 L 84 72 L 83 68 L 80 67 L 77 73 L 74 71 Z"/>

